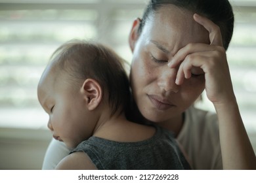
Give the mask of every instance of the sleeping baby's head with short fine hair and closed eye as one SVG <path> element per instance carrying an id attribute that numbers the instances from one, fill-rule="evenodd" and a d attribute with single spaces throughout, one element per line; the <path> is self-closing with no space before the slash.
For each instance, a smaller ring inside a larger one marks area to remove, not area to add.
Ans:
<path id="1" fill-rule="evenodd" d="M 124 64 L 110 48 L 95 42 L 74 40 L 54 52 L 41 76 L 37 95 L 50 116 L 48 126 L 55 139 L 74 147 L 89 138 L 95 127 L 96 116 L 88 119 L 85 110 L 105 103 L 114 115 L 129 106 L 129 79 Z M 91 124 L 85 124 L 85 120 Z M 70 137 L 72 133 L 74 137 Z"/>

